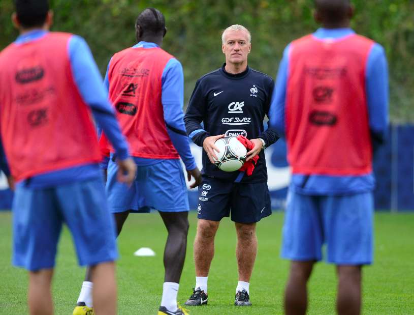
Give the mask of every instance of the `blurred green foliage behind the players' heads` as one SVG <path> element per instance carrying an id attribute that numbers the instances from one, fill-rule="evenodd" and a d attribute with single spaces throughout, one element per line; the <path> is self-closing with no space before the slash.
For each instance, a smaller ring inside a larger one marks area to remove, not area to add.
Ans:
<path id="1" fill-rule="evenodd" d="M 382 44 L 390 67 L 391 120 L 414 122 L 414 1 L 354 0 L 353 28 Z M 168 33 L 163 48 L 184 67 L 185 101 L 197 78 L 224 61 L 220 35 L 231 24 L 252 34 L 249 65 L 275 78 L 284 47 L 317 28 L 313 0 L 51 0 L 53 30 L 83 36 L 105 72 L 111 55 L 135 43 L 134 22 L 146 7 L 160 9 Z M 0 0 L 0 49 L 17 36 L 10 22 L 11 0 Z"/>

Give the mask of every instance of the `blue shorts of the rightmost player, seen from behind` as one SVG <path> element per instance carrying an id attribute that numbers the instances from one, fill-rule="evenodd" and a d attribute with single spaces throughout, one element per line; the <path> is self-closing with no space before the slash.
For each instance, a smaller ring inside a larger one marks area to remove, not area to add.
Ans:
<path id="1" fill-rule="evenodd" d="M 371 192 L 311 196 L 289 192 L 283 225 L 282 257 L 326 260 L 336 265 L 369 265 L 373 251 Z"/>

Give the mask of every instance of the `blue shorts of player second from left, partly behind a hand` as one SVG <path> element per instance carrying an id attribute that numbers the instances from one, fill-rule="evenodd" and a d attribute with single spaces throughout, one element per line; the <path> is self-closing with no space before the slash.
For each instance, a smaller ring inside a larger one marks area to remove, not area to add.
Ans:
<path id="1" fill-rule="evenodd" d="M 188 195 L 181 162 L 164 160 L 137 166 L 137 177 L 131 187 L 116 180 L 118 165 L 109 161 L 106 192 L 111 212 L 188 211 Z"/>

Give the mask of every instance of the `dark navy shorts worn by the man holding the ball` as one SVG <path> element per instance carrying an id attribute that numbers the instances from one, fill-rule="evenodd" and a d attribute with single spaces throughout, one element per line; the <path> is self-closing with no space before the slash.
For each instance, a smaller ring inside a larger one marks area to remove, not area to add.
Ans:
<path id="1" fill-rule="evenodd" d="M 231 215 L 234 222 L 259 222 L 272 214 L 267 183 L 232 183 L 203 176 L 197 214 L 210 221 Z"/>

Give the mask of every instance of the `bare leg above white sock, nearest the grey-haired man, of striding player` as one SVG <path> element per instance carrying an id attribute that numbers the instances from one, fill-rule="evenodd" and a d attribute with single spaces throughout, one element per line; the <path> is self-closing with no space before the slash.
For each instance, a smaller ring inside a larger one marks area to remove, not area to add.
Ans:
<path id="1" fill-rule="evenodd" d="M 160 212 L 168 230 L 164 250 L 164 282 L 180 282 L 187 249 L 188 212 Z"/>

